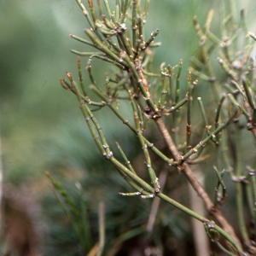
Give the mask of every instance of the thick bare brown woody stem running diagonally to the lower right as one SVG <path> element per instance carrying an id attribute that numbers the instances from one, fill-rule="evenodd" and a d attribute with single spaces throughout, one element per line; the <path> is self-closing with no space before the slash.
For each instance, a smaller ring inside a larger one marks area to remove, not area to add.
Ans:
<path id="1" fill-rule="evenodd" d="M 169 150 L 172 152 L 174 160 L 178 161 L 179 154 L 177 151 L 177 147 L 173 143 L 172 137 L 171 137 L 169 131 L 166 129 L 166 125 L 165 125 L 163 119 L 160 117 L 160 118 L 154 119 L 154 121 L 155 121 L 156 125 L 158 126 L 162 137 L 165 139 Z M 233 227 L 229 224 L 229 222 L 226 220 L 226 218 L 224 218 L 224 215 L 222 214 L 222 212 L 214 209 L 213 203 L 212 203 L 211 199 L 209 198 L 209 196 L 207 195 L 206 190 L 203 189 L 203 187 L 201 186 L 201 183 L 198 182 L 194 173 L 191 171 L 189 165 L 186 164 L 185 162 L 183 163 L 182 171 L 183 171 L 185 177 L 187 177 L 192 188 L 195 189 L 195 192 L 197 193 L 197 195 L 199 195 L 201 197 L 202 201 L 204 202 L 205 206 L 207 207 L 207 211 L 214 218 L 216 218 L 218 220 L 218 223 L 221 224 L 222 228 L 228 234 L 230 234 L 230 236 L 232 236 L 237 241 L 237 243 L 239 245 L 241 245 L 241 242 L 238 239 L 238 237 L 236 236 L 236 233 L 235 233 L 235 230 L 233 229 Z"/>

